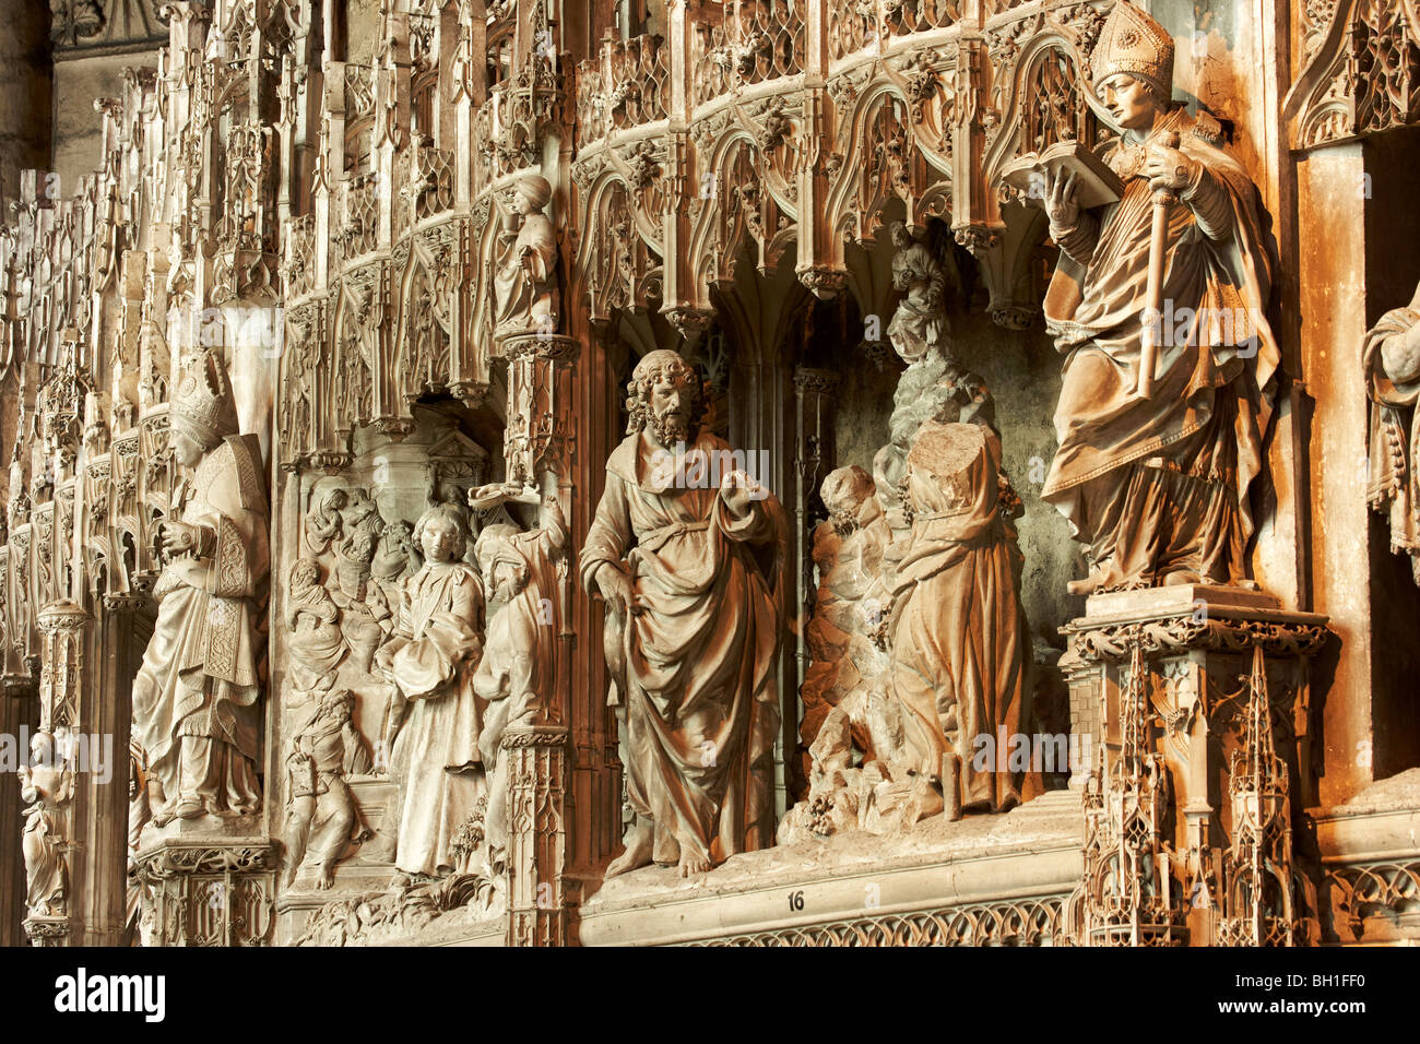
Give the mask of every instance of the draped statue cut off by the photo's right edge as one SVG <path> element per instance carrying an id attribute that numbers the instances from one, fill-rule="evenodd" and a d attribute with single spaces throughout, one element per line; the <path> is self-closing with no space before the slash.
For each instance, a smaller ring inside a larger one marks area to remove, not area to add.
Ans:
<path id="1" fill-rule="evenodd" d="M 1406 308 L 1380 317 L 1366 334 L 1363 354 L 1370 395 L 1367 439 L 1370 476 L 1366 499 L 1390 517 L 1390 550 L 1409 554 L 1420 584 L 1420 287 Z"/>

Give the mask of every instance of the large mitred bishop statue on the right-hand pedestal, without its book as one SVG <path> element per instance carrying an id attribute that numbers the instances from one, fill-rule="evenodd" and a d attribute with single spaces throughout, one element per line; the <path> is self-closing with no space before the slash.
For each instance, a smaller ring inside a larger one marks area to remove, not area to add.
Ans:
<path id="1" fill-rule="evenodd" d="M 1092 62 L 1122 129 L 1099 152 L 1123 196 L 1083 212 L 1064 169 L 1047 189 L 1061 260 L 1045 318 L 1065 369 L 1041 496 L 1086 544 L 1089 577 L 1072 594 L 1247 582 L 1248 487 L 1279 361 L 1262 314 L 1271 267 L 1255 186 L 1221 126 L 1170 104 L 1173 54 L 1159 23 L 1115 7 Z M 1152 312 L 1160 304 L 1173 322 Z M 1142 391 L 1146 328 L 1160 337 Z"/>

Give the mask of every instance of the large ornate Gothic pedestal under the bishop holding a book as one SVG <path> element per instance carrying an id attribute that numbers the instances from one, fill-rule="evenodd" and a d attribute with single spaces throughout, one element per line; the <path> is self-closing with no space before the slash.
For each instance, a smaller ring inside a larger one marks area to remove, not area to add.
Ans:
<path id="1" fill-rule="evenodd" d="M 1309 658 L 1326 618 L 1180 585 L 1095 595 L 1062 628 L 1085 866 L 1083 945 L 1294 945 L 1291 810 L 1314 803 Z"/>

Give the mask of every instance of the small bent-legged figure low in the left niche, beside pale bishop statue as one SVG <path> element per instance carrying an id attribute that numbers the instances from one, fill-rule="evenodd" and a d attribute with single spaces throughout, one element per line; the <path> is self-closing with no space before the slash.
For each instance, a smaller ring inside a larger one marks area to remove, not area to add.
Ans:
<path id="1" fill-rule="evenodd" d="M 329 888 L 335 864 L 351 844 L 369 837 L 359 822 L 346 777 L 371 770 L 365 740 L 351 713 L 355 693 L 322 693 L 305 724 L 291 739 L 285 758 L 288 805 L 285 828 L 285 885 L 291 886 L 307 854 L 318 869 L 315 886 Z"/>

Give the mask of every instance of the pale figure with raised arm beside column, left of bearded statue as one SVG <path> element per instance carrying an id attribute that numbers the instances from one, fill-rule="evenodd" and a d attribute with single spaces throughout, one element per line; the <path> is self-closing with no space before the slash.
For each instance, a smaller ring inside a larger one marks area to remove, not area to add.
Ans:
<path id="1" fill-rule="evenodd" d="M 517 494 L 518 487 L 504 489 Z M 490 487 L 470 501 L 491 504 Z M 559 632 L 558 564 L 568 548 L 567 521 L 557 499 L 557 479 L 542 493 L 542 524 L 528 533 L 494 524 L 479 534 L 476 558 L 488 592 L 491 616 L 474 692 L 488 702 L 479 749 L 488 770 L 484 818 L 487 864 L 497 871 L 507 852 L 508 766 L 498 750 L 508 727 L 535 724 L 554 699 Z"/>

